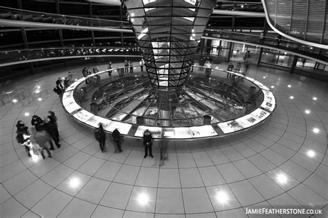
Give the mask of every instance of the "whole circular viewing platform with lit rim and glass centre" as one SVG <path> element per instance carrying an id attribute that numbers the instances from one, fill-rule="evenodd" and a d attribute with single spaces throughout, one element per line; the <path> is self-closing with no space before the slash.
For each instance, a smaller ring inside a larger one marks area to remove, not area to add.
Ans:
<path id="1" fill-rule="evenodd" d="M 148 129 L 156 139 L 224 137 L 264 123 L 275 110 L 273 93 L 237 72 L 194 66 L 183 86 L 158 89 L 137 68 L 78 79 L 64 92 L 64 110 L 91 128 L 102 123 L 128 137 Z"/>

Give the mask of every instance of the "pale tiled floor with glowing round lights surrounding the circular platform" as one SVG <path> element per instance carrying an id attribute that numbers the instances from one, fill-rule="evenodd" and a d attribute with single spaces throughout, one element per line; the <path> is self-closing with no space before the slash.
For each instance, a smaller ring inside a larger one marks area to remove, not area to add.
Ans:
<path id="1" fill-rule="evenodd" d="M 274 86 L 271 120 L 231 137 L 170 141 L 160 168 L 158 143 L 154 159 L 143 159 L 137 139 L 125 139 L 120 154 L 107 139 L 102 153 L 91 130 L 66 117 L 53 83 L 81 69 L 12 83 L 21 97 L 0 106 L 0 217 L 280 217 L 246 215 L 250 208 L 322 208 L 316 217 L 327 216 L 327 83 L 252 66 L 250 77 Z M 48 110 L 62 147 L 35 162 L 15 140 L 15 123 Z"/>

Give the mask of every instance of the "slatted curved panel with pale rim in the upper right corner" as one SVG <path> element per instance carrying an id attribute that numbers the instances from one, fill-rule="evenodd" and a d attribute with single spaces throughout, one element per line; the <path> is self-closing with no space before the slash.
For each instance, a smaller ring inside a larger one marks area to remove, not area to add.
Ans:
<path id="1" fill-rule="evenodd" d="M 328 49 L 327 0 L 262 0 L 273 30 L 300 43 Z"/>

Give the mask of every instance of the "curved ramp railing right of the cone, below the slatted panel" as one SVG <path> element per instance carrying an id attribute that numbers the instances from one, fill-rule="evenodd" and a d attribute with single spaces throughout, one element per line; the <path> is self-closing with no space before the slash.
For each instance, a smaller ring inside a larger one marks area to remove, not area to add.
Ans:
<path id="1" fill-rule="evenodd" d="M 313 61 L 318 61 L 326 65 L 328 64 L 328 50 L 304 45 L 302 43 L 291 41 L 290 39 L 277 39 L 276 37 L 263 37 L 263 39 L 260 39 L 259 34 L 224 30 L 206 30 L 206 37 L 203 38 L 243 42 L 253 46 L 272 48 L 274 50 L 289 52 L 306 59 L 312 59 Z"/>

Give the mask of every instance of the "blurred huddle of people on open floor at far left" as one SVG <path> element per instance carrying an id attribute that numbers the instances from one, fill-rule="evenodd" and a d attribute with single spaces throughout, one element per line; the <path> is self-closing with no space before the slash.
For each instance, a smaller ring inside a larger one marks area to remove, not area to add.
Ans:
<path id="1" fill-rule="evenodd" d="M 33 126 L 32 134 L 23 121 L 17 122 L 17 142 L 21 146 L 25 146 L 28 157 L 32 157 L 33 154 L 40 154 L 45 159 L 44 150 L 46 150 L 48 157 L 52 157 L 49 150 L 55 150 L 53 143 L 55 143 L 57 148 L 61 146 L 55 112 L 48 111 L 48 116 L 44 120 L 37 115 L 33 115 L 31 125 Z"/>

